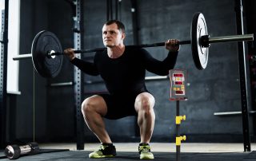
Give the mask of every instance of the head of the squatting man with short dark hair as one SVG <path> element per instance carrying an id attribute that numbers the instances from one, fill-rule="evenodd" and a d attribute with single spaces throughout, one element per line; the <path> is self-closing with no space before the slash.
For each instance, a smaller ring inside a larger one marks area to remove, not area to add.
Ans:
<path id="1" fill-rule="evenodd" d="M 102 39 L 106 47 L 123 45 L 125 37 L 125 26 L 118 20 L 110 20 L 102 27 Z"/>

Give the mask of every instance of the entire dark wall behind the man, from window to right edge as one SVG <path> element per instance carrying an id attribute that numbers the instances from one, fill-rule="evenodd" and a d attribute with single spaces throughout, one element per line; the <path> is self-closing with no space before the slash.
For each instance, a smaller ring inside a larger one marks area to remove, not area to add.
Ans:
<path id="1" fill-rule="evenodd" d="M 170 38 L 190 39 L 193 14 L 202 12 L 206 18 L 210 37 L 236 34 L 234 0 L 176 1 L 141 0 L 138 2 L 139 43 L 154 43 Z M 58 8 L 58 10 L 56 10 Z M 134 44 L 131 3 L 122 1 L 122 22 L 126 25 L 126 45 Z M 68 1 L 22 1 L 21 6 L 21 53 L 29 53 L 34 35 L 42 29 L 54 32 L 62 48 L 73 47 L 72 8 Z M 106 2 L 86 0 L 83 4 L 83 49 L 102 47 L 102 24 L 106 22 Z M 253 17 L 255 18 L 255 16 Z M 247 20 L 250 21 L 250 20 Z M 253 32 L 253 31 L 252 31 Z M 167 51 L 163 47 L 148 48 L 153 57 L 163 60 Z M 94 54 L 85 54 L 91 61 Z M 190 45 L 182 45 L 175 69 L 188 73 L 187 96 L 181 102 L 182 134 L 190 141 L 220 142 L 242 141 L 242 116 L 214 116 L 214 112 L 241 111 L 237 44 L 222 43 L 210 46 L 207 68 L 198 71 L 191 55 Z M 147 76 L 154 76 L 147 73 Z M 64 59 L 61 73 L 53 79 L 35 74 L 35 131 L 42 141 L 72 140 L 75 137 L 74 88 L 50 87 L 52 83 L 73 81 L 73 65 Z M 98 81 L 98 83 L 90 83 Z M 106 92 L 100 77 L 84 75 L 84 98 L 95 92 Z M 17 138 L 33 136 L 33 65 L 20 61 L 20 90 L 17 108 Z M 154 141 L 174 142 L 175 102 L 170 102 L 170 81 L 146 81 L 156 104 Z M 126 93 L 124 93 L 125 95 Z M 251 108 L 250 108 L 251 109 Z M 136 118 L 106 120 L 106 128 L 114 141 L 138 141 Z M 251 129 L 253 124 L 250 120 Z M 118 131 L 117 131 L 118 129 Z M 251 131 L 252 133 L 252 131 Z M 218 137 L 219 136 L 219 137 Z M 97 140 L 86 128 L 86 142 Z"/>

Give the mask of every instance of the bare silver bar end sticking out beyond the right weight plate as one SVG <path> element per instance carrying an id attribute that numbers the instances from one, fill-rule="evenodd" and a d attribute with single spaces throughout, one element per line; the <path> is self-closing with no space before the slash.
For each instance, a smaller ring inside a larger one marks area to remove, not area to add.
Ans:
<path id="1" fill-rule="evenodd" d="M 224 37 L 209 37 L 209 44 L 230 41 L 254 41 L 254 34 L 231 35 Z"/>

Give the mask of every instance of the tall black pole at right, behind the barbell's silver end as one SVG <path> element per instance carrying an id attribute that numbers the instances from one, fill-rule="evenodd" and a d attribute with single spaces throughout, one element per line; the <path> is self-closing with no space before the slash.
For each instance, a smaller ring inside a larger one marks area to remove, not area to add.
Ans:
<path id="1" fill-rule="evenodd" d="M 242 0 L 235 1 L 237 33 L 243 34 L 243 16 L 242 16 Z M 250 151 L 250 129 L 249 129 L 249 114 L 248 114 L 248 87 L 246 75 L 246 53 L 245 43 L 238 42 L 238 61 L 239 61 L 239 74 L 240 74 L 240 90 L 241 90 L 241 104 L 242 104 L 242 132 L 244 151 Z"/>

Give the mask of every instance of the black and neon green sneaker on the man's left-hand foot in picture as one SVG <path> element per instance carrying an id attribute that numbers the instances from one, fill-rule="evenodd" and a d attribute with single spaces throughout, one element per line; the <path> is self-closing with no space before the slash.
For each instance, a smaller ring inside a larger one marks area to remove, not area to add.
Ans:
<path id="1" fill-rule="evenodd" d="M 89 158 L 113 158 L 115 155 L 117 155 L 117 153 L 112 143 L 102 143 L 97 151 L 89 154 Z"/>

